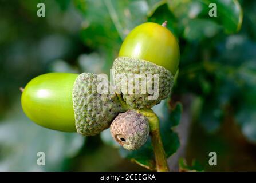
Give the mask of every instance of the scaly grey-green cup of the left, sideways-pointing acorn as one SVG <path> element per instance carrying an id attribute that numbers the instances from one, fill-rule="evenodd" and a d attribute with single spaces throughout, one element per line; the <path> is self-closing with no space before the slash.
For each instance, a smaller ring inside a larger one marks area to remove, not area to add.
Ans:
<path id="1" fill-rule="evenodd" d="M 80 74 L 73 87 L 73 107 L 77 132 L 94 136 L 109 128 L 112 120 L 123 112 L 116 94 L 97 92 L 96 74 Z"/>

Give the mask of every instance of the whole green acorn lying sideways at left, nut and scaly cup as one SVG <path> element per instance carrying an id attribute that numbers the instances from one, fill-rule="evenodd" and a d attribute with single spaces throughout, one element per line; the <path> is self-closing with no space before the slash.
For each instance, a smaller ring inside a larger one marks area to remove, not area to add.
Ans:
<path id="1" fill-rule="evenodd" d="M 97 92 L 96 74 L 48 73 L 23 89 L 27 117 L 45 128 L 94 136 L 123 112 L 116 94 Z"/>

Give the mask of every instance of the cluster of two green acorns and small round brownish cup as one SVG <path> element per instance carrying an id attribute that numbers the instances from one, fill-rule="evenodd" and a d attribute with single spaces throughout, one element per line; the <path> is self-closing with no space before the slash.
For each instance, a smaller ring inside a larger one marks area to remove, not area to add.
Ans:
<path id="1" fill-rule="evenodd" d="M 110 127 L 121 146 L 135 150 L 149 135 L 148 119 L 137 111 L 167 98 L 178 63 L 174 35 L 157 23 L 143 23 L 128 34 L 113 62 L 116 93 L 99 93 L 97 74 L 49 73 L 26 85 L 22 108 L 32 121 L 54 130 L 94 136 Z M 131 110 L 125 112 L 119 97 Z"/>

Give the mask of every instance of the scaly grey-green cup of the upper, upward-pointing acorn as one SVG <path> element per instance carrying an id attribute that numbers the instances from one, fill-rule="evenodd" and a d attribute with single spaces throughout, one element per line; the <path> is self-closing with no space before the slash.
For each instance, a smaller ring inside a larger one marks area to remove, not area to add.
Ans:
<path id="1" fill-rule="evenodd" d="M 118 57 L 113 62 L 112 69 L 115 70 L 115 86 L 118 93 L 122 93 L 126 104 L 132 108 L 152 108 L 159 104 L 161 100 L 168 97 L 174 82 L 170 71 L 142 59 Z M 135 85 L 136 74 L 145 78 L 137 79 L 140 81 L 137 85 Z M 157 74 L 156 77 L 153 77 L 154 74 Z M 155 79 L 157 79 L 156 83 Z M 143 87 L 144 92 L 142 92 Z"/>

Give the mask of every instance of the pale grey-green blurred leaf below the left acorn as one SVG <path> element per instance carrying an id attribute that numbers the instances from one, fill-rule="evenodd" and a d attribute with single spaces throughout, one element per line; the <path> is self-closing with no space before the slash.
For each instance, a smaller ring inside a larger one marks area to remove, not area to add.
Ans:
<path id="1" fill-rule="evenodd" d="M 77 155 L 83 144 L 84 137 L 77 134 L 56 132 L 27 122 L 18 104 L 0 124 L 0 171 L 66 170 L 69 159 Z M 37 165 L 38 152 L 46 154 L 45 166 Z"/>

